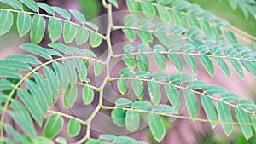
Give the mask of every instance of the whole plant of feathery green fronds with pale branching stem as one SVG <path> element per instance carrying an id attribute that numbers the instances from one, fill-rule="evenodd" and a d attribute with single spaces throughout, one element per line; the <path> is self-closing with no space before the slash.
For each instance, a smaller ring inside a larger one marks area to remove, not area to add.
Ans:
<path id="1" fill-rule="evenodd" d="M 20 45 L 28 52 L 26 55 L 10 55 L 0 60 L 2 142 L 54 143 L 55 139 L 56 142 L 67 143 L 67 137 L 56 137 L 64 129 L 64 119 L 67 119 L 65 131 L 68 137 L 79 135 L 82 127 L 87 127 L 86 135 L 79 141 L 81 143 L 145 143 L 108 134 L 102 134 L 98 139 L 92 138 L 90 126 L 100 110 L 109 111 L 113 124 L 131 132 L 139 130 L 141 122 L 146 121 L 158 142 L 166 135 L 164 117 L 207 122 L 212 124 L 212 128 L 221 124 L 226 135 L 231 134 L 233 124 L 236 124 L 241 127 L 247 140 L 253 136 L 253 129 L 256 130 L 256 106 L 253 101 L 240 99 L 220 85 L 208 85 L 198 80 L 196 75 L 199 73 L 197 67 L 203 66 L 214 78 L 218 74 L 218 65 L 230 77 L 230 63 L 239 77 L 245 77 L 245 70 L 256 77 L 256 53 L 240 43 L 239 35 L 232 32 L 227 21 L 201 9 L 198 4 L 184 0 L 127 0 L 131 14 L 125 16 L 124 26 L 114 26 L 112 5 L 119 8 L 119 3 L 116 0 L 103 0 L 103 7 L 108 9 L 104 35 L 99 31 L 100 27 L 87 21 L 84 14 L 75 9 L 67 11 L 32 0 L 0 2 L 13 8 L 0 9 L 0 36 L 9 32 L 17 19 L 20 37 L 30 32 L 31 39 L 31 43 Z M 232 8 L 236 9 L 239 5 L 246 17 L 248 13 L 255 14 L 253 1 L 232 2 Z M 23 10 L 24 6 L 31 11 Z M 40 14 L 39 9 L 44 9 L 47 14 Z M 17 17 L 14 13 L 18 13 Z M 55 14 L 61 17 L 55 17 Z M 50 49 L 38 45 L 46 30 L 52 42 L 48 44 Z M 112 30 L 122 30 L 127 38 L 123 53 L 116 54 L 113 50 Z M 65 44 L 58 43 L 61 36 Z M 140 43 L 130 43 L 135 40 Z M 90 49 L 67 45 L 74 42 L 78 46 L 86 43 L 96 49 L 101 45 L 106 46 L 106 60 L 99 59 Z M 112 59 L 118 58 L 125 67 L 113 77 L 109 66 Z M 166 72 L 171 69 L 170 65 L 175 67 L 176 73 Z M 184 71 L 186 67 L 193 74 Z M 91 75 L 95 78 L 103 76 L 101 85 L 96 86 L 93 83 L 96 79 Z M 116 82 L 120 96 L 114 104 L 107 106 L 104 88 L 113 82 Z M 79 89 L 82 89 L 81 93 Z M 99 96 L 95 98 L 96 95 Z M 95 100 L 98 100 L 96 109 L 88 119 L 49 109 L 57 101 L 71 109 L 79 100 L 85 106 L 95 105 Z M 188 110 L 189 116 L 181 116 L 181 107 Z M 206 119 L 198 118 L 199 112 L 202 112 L 200 108 L 205 112 Z M 15 130 L 6 117 L 14 119 L 23 132 Z M 38 136 L 32 119 L 43 129 L 43 136 Z M 13 137 L 12 140 L 5 131 Z"/>

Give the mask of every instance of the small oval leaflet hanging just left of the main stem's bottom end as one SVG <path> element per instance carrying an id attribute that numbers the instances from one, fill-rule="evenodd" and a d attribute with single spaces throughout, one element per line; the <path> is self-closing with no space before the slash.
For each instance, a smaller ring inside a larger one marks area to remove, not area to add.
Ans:
<path id="1" fill-rule="evenodd" d="M 79 135 L 80 130 L 81 124 L 79 123 L 79 121 L 74 118 L 71 118 L 67 124 L 67 135 L 70 137 L 77 136 Z"/>

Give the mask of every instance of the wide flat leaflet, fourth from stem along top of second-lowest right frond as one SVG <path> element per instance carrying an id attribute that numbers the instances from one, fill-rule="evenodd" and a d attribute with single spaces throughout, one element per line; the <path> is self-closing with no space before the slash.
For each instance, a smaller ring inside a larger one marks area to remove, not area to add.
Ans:
<path id="1" fill-rule="evenodd" d="M 176 74 L 170 77 L 170 82 L 172 84 L 183 84 L 183 83 L 187 83 L 195 80 L 196 78 L 189 73 Z"/>

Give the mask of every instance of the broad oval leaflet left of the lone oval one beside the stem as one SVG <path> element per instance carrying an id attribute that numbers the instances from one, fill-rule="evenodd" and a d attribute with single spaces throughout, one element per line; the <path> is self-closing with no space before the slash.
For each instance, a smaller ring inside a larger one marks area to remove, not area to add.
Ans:
<path id="1" fill-rule="evenodd" d="M 76 85 L 69 86 L 64 92 L 63 103 L 66 108 L 72 107 L 78 97 L 78 88 Z"/>

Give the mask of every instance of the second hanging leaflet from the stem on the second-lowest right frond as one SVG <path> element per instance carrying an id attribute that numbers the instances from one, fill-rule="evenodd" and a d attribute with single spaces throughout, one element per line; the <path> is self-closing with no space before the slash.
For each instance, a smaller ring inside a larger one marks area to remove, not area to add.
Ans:
<path id="1" fill-rule="evenodd" d="M 134 94 L 139 100 L 143 100 L 144 97 L 144 86 L 143 82 L 138 79 L 131 79 L 131 86 Z"/>

